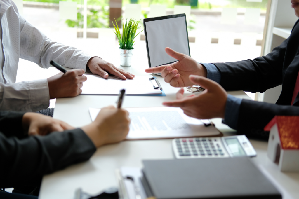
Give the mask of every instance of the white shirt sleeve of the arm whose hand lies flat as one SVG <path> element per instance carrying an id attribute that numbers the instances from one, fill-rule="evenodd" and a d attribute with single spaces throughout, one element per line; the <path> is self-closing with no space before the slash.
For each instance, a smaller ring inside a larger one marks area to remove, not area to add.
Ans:
<path id="1" fill-rule="evenodd" d="M 26 21 L 21 15 L 20 58 L 34 62 L 42 68 L 49 68 L 53 60 L 68 68 L 82 68 L 86 72 L 86 65 L 92 57 L 82 50 L 54 42 L 36 27 Z"/>

